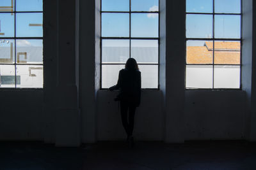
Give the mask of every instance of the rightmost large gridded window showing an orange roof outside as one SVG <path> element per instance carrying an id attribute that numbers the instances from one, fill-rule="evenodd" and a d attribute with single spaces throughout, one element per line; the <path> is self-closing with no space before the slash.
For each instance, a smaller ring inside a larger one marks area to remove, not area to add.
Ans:
<path id="1" fill-rule="evenodd" d="M 241 0 L 186 0 L 186 89 L 240 89 Z"/>

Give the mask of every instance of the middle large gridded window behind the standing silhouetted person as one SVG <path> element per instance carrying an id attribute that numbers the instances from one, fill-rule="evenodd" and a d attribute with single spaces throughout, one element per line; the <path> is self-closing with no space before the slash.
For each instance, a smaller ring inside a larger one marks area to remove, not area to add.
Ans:
<path id="1" fill-rule="evenodd" d="M 159 1 L 101 0 L 101 88 L 115 85 L 130 57 L 137 60 L 141 87 L 157 89 Z"/>

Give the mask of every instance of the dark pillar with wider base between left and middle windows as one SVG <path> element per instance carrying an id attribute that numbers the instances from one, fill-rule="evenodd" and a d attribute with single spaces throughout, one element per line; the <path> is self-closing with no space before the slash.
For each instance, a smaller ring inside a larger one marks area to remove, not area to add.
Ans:
<path id="1" fill-rule="evenodd" d="M 58 1 L 56 146 L 79 146 L 77 100 L 76 1 Z"/>

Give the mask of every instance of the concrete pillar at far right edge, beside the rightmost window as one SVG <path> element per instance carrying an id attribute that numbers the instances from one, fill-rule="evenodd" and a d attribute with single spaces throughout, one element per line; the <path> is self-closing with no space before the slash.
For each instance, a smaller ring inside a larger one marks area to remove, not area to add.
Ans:
<path id="1" fill-rule="evenodd" d="M 242 89 L 246 92 L 244 134 L 249 141 L 256 141 L 256 81 L 255 81 L 255 6 L 252 0 L 243 0 L 242 29 Z"/>

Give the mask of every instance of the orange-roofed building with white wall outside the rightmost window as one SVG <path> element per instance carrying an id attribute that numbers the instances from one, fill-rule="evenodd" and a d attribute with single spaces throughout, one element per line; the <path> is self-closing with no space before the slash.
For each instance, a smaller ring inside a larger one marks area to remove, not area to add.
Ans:
<path id="1" fill-rule="evenodd" d="M 213 84 L 214 88 L 239 88 L 240 42 L 215 41 L 214 67 L 211 65 L 213 64 L 212 41 L 205 41 L 202 46 L 187 46 L 186 62 L 187 89 L 211 89 Z"/>

